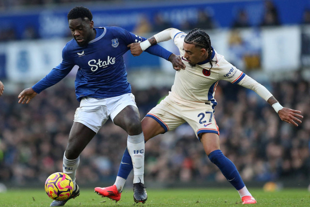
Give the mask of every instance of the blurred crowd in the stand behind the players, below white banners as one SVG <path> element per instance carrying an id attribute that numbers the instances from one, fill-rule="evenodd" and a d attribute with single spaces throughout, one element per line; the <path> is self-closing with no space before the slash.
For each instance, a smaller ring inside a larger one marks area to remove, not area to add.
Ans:
<path id="1" fill-rule="evenodd" d="M 282 122 L 254 92 L 225 81 L 217 86 L 215 117 L 221 150 L 244 181 L 309 180 L 310 87 L 298 74 L 290 78 L 264 85 L 284 107 L 303 112 L 299 127 Z M 28 105 L 18 104 L 17 94 L 0 97 L 0 182 L 42 184 L 48 175 L 62 171 L 62 156 L 78 107 L 74 88 L 68 87 L 67 81 L 45 90 Z M 141 118 L 168 91 L 154 87 L 135 90 L 133 85 Z M 114 182 L 126 136 L 111 121 L 100 129 L 81 154 L 80 185 Z M 186 124 L 146 143 L 145 179 L 158 183 L 227 182 Z"/>

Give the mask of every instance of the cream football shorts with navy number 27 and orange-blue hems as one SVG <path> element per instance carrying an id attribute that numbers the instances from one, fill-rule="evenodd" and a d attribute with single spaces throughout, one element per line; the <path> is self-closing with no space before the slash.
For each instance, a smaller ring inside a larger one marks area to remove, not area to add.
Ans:
<path id="1" fill-rule="evenodd" d="M 214 109 L 211 102 L 182 102 L 167 96 L 146 116 L 155 119 L 165 131 L 171 131 L 187 122 L 193 128 L 198 139 L 201 133 L 219 135 Z"/>

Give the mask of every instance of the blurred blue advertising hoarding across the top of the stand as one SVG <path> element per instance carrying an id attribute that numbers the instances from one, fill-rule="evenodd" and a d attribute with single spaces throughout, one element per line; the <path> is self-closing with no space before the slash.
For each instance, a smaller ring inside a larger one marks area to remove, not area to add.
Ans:
<path id="1" fill-rule="evenodd" d="M 199 11 L 212 17 L 215 25 L 229 28 L 240 10 L 248 14 L 251 26 L 259 26 L 264 13 L 263 0 L 217 0 L 217 1 L 181 1 L 165 4 L 151 1 L 126 1 L 122 5 L 108 3 L 86 4 L 93 13 L 95 26 L 120 26 L 133 32 L 141 19 L 155 25 L 155 16 L 159 15 L 171 26 L 180 28 L 186 22 L 195 25 Z M 147 3 L 145 3 L 147 2 Z M 279 14 L 281 24 L 300 24 L 306 8 L 310 8 L 309 0 L 273 0 Z M 1 12 L 1 29 L 16 30 L 17 39 L 22 39 L 27 28 L 33 28 L 40 38 L 65 37 L 70 35 L 67 26 L 67 13 L 73 6 L 29 8 L 16 11 Z M 192 28 L 193 29 L 193 28 Z"/>

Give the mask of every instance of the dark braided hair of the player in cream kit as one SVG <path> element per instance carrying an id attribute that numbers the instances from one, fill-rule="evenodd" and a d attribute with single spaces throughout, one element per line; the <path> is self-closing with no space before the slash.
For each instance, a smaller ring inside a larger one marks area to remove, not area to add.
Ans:
<path id="1" fill-rule="evenodd" d="M 198 46 L 201 48 L 205 48 L 208 51 L 208 60 L 212 68 L 213 65 L 211 63 L 211 56 L 212 56 L 211 40 L 207 32 L 199 28 L 193 29 L 190 32 L 188 32 L 188 34 L 184 38 L 184 42 L 187 44 L 195 45 L 195 47 Z"/>

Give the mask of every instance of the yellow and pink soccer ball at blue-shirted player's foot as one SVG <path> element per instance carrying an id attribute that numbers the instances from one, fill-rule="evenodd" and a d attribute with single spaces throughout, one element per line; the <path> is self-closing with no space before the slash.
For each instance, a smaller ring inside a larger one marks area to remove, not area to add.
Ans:
<path id="1" fill-rule="evenodd" d="M 66 200 L 73 191 L 73 181 L 65 173 L 53 173 L 45 181 L 45 191 L 48 197 L 56 201 Z"/>

